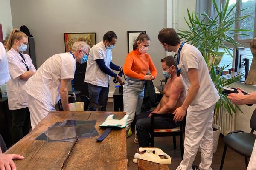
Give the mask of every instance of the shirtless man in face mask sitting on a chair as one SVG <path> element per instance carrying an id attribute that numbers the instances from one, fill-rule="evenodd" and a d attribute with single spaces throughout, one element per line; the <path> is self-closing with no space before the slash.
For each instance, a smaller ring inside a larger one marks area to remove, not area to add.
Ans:
<path id="1" fill-rule="evenodd" d="M 164 95 L 157 107 L 151 113 L 173 113 L 179 108 L 186 98 L 185 85 L 182 77 L 177 77 L 176 66 L 173 56 L 161 59 L 163 75 L 168 78 L 164 87 Z M 140 147 L 148 147 L 150 142 L 150 116 L 151 113 L 141 113 L 138 115 L 136 130 Z M 155 125 L 159 129 L 171 129 L 179 124 L 171 117 L 156 117 Z M 134 142 L 136 139 L 134 139 Z"/>

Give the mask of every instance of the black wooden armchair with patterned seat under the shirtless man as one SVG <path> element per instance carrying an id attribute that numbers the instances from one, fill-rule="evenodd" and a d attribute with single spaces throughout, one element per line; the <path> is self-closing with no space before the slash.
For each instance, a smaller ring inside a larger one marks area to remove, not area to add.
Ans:
<path id="1" fill-rule="evenodd" d="M 174 115 L 170 113 L 161 113 L 161 114 L 151 114 L 151 130 L 150 130 L 150 146 L 154 147 L 154 137 L 164 137 L 164 136 L 172 136 L 173 139 L 173 148 L 176 149 L 176 136 L 180 136 L 180 153 L 181 158 L 183 159 L 184 154 L 184 145 L 183 145 L 183 125 L 186 120 L 186 116 L 184 119 L 180 122 L 180 126 L 175 127 L 173 129 L 156 129 L 154 125 L 154 118 L 155 117 L 171 117 L 173 118 Z"/>

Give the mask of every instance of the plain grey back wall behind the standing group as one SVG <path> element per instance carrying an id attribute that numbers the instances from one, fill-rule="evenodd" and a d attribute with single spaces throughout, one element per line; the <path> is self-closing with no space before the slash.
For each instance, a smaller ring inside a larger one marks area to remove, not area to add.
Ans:
<path id="1" fill-rule="evenodd" d="M 37 65 L 64 52 L 64 32 L 96 32 L 96 42 L 115 31 L 113 63 L 123 65 L 127 55 L 127 31 L 146 30 L 151 38 L 148 53 L 163 79 L 160 59 L 165 52 L 157 39 L 166 26 L 166 0 L 10 0 L 14 28 L 26 25 L 35 37 Z M 113 80 L 113 78 L 111 79 Z M 111 81 L 112 82 L 112 81 Z M 115 85 L 111 83 L 110 92 Z M 110 93 L 111 94 L 111 93 Z"/>

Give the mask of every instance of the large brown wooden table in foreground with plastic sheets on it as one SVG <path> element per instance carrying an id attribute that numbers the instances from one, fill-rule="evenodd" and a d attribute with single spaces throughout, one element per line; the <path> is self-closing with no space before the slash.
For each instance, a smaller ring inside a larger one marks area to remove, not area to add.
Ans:
<path id="1" fill-rule="evenodd" d="M 23 160 L 15 160 L 18 170 L 60 170 L 73 142 L 51 142 L 34 140 L 55 122 L 70 120 L 97 120 L 99 135 L 104 128 L 99 125 L 110 114 L 116 119 L 125 116 L 123 112 L 74 112 L 54 111 L 49 113 L 28 135 L 13 145 L 6 154 L 20 154 Z M 99 136 L 97 136 L 99 137 Z M 64 170 L 127 170 L 125 128 L 112 130 L 102 141 L 95 137 L 79 138 Z"/>

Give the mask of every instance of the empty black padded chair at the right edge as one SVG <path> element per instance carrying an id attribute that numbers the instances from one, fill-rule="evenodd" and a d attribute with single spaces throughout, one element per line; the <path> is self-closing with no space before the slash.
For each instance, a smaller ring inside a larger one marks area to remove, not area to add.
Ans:
<path id="1" fill-rule="evenodd" d="M 227 151 L 227 147 L 230 147 L 236 153 L 245 157 L 245 167 L 248 166 L 248 158 L 250 158 L 254 142 L 256 139 L 256 135 L 253 134 L 254 130 L 256 130 L 256 109 L 253 111 L 253 114 L 250 119 L 250 127 L 252 128 L 250 133 L 245 133 L 242 130 L 235 130 L 224 136 L 223 141 L 225 143 L 224 151 L 221 159 L 220 170 L 223 168 L 224 159 Z"/>

